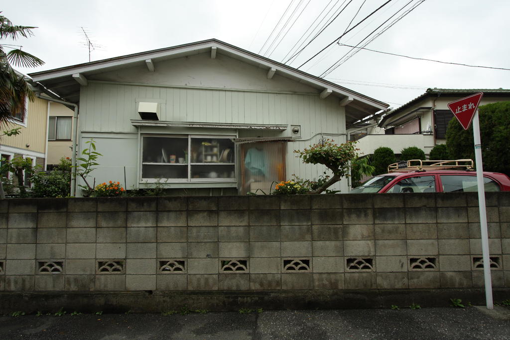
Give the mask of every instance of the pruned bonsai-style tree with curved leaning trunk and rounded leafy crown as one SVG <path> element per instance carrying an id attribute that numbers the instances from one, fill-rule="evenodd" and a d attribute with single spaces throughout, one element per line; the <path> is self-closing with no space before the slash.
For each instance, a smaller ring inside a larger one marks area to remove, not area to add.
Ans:
<path id="1" fill-rule="evenodd" d="M 321 193 L 331 185 L 340 181 L 342 177 L 350 176 L 350 162 L 358 158 L 359 149 L 355 149 L 355 141 L 347 141 L 343 144 L 335 144 L 333 140 L 326 139 L 323 142 L 310 145 L 310 149 L 303 151 L 294 150 L 303 163 L 322 164 L 333 172 L 333 176 L 329 178 L 317 190 L 308 193 Z"/>

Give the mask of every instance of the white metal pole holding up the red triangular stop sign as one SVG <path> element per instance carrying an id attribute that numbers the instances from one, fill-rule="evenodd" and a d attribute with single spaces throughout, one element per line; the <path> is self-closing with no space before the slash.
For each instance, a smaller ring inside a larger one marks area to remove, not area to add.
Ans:
<path id="1" fill-rule="evenodd" d="M 491 259 L 489 258 L 489 233 L 487 232 L 487 211 L 483 186 L 483 165 L 481 162 L 480 122 L 478 109 L 473 117 L 473 138 L 475 144 L 476 179 L 478 182 L 478 209 L 480 211 L 481 250 L 483 255 L 483 279 L 487 309 L 494 309 L 492 301 Z"/>

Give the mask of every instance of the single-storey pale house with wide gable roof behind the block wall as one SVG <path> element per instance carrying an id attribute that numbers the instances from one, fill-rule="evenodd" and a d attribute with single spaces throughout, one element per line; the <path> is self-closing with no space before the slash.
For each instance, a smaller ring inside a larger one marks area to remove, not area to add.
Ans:
<path id="1" fill-rule="evenodd" d="M 322 136 L 345 142 L 350 125 L 388 106 L 216 39 L 31 76 L 79 105 L 78 152 L 93 138 L 103 154 L 95 183 L 176 195 L 317 179 L 323 168 L 293 151 Z"/>

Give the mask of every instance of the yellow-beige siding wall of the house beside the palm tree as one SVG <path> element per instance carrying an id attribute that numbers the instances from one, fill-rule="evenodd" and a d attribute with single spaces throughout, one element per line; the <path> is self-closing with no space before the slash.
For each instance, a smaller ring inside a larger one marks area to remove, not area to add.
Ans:
<path id="1" fill-rule="evenodd" d="M 21 128 L 17 136 L 3 137 L 2 145 L 19 150 L 34 151 L 44 154 L 46 152 L 46 124 L 47 124 L 47 101 L 36 98 L 28 103 L 27 115 L 24 124 L 10 123 L 3 131 Z M 28 145 L 28 146 L 27 146 Z"/>

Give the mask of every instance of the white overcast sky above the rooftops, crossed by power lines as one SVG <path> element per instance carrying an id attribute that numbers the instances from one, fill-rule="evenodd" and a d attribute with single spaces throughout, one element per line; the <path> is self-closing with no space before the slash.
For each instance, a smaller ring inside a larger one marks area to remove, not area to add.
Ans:
<path id="1" fill-rule="evenodd" d="M 16 42 L 24 51 L 46 62 L 37 69 L 19 69 L 31 73 L 88 62 L 88 48 L 81 27 L 85 28 L 90 40 L 100 46 L 92 51 L 92 61 L 216 38 L 282 62 L 291 56 L 288 53 L 298 39 L 308 36 L 310 31 L 307 33 L 307 30 L 314 27 L 312 24 L 318 16 L 320 20 L 332 9 L 325 16 L 327 19 L 337 9 L 348 5 L 290 63 L 298 67 L 386 1 L 29 0 L 6 2 L 0 10 L 14 25 L 38 27 L 34 30 L 35 36 Z M 419 1 L 392 0 L 342 37 L 340 43 L 358 44 L 410 1 L 399 14 Z M 342 3 L 344 5 L 340 7 Z M 285 12 L 287 8 L 289 11 Z M 426 0 L 366 48 L 445 62 L 510 68 L 508 13 L 508 0 Z M 274 40 L 282 28 L 282 33 Z M 266 40 L 268 43 L 264 45 Z M 4 40 L 2 43 L 10 42 Z M 299 69 L 320 76 L 349 50 L 349 47 L 334 44 Z M 507 70 L 412 60 L 370 51 L 355 54 L 325 79 L 395 108 L 429 87 L 510 88 L 510 71 Z"/>

